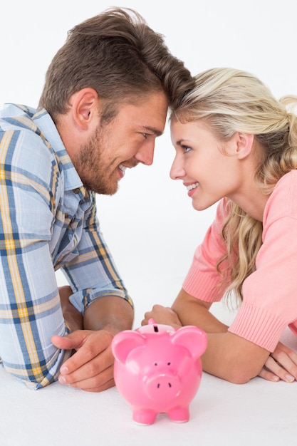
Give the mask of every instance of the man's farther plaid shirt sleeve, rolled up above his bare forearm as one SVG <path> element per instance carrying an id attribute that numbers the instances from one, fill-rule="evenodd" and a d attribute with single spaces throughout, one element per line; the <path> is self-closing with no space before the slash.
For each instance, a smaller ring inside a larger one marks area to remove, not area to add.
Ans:
<path id="1" fill-rule="evenodd" d="M 95 198 L 92 207 L 85 214 L 78 255 L 63 267 L 63 272 L 73 289 L 71 303 L 80 313 L 83 314 L 93 301 L 104 296 L 118 296 L 133 307 L 132 299 L 100 231 Z"/>

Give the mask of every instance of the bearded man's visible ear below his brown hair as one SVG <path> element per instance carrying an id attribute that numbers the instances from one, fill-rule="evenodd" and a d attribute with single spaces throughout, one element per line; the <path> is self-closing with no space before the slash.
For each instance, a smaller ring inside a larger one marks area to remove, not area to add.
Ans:
<path id="1" fill-rule="evenodd" d="M 73 120 L 81 130 L 88 127 L 96 116 L 98 123 L 98 93 L 93 88 L 83 88 L 71 96 Z"/>

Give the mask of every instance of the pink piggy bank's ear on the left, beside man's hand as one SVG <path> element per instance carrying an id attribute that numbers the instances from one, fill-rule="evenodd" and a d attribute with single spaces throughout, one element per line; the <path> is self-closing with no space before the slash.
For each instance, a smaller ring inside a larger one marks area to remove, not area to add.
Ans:
<path id="1" fill-rule="evenodd" d="M 144 346 L 145 343 L 146 340 L 140 333 L 133 330 L 124 330 L 114 336 L 111 350 L 115 359 L 124 364 L 130 351 Z"/>

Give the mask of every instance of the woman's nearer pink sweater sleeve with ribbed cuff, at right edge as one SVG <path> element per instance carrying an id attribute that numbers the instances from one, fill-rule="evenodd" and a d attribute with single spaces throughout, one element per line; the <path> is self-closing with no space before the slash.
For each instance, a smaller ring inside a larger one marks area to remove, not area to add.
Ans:
<path id="1" fill-rule="evenodd" d="M 231 333 L 274 351 L 297 320 L 297 171 L 285 175 L 264 211 L 263 244 L 256 271 L 243 285 L 243 303 Z"/>

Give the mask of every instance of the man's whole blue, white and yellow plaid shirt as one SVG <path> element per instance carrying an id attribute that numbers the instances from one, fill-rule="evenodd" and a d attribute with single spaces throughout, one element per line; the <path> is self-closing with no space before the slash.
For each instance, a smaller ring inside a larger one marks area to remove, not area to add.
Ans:
<path id="1" fill-rule="evenodd" d="M 57 379 L 70 352 L 51 336 L 68 328 L 55 271 L 83 313 L 95 299 L 132 305 L 100 232 L 95 195 L 83 187 L 46 110 L 0 113 L 0 357 L 30 388 Z"/>

